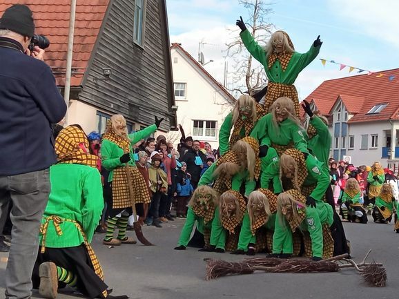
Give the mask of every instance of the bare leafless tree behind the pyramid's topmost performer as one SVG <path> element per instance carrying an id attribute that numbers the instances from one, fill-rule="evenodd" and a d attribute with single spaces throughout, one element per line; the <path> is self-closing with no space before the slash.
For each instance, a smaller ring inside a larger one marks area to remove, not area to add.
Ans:
<path id="1" fill-rule="evenodd" d="M 273 23 L 269 23 L 268 17 L 273 12 L 270 7 L 271 3 L 265 3 L 263 0 L 239 0 L 238 2 L 246 8 L 249 14 L 249 19 L 246 21 L 246 28 L 251 32 L 255 41 L 260 41 L 260 44 L 266 44 L 272 30 L 275 28 Z M 244 17 L 244 21 L 245 19 Z M 234 61 L 233 72 L 231 72 L 233 87 L 229 90 L 234 95 L 237 95 L 237 93 L 249 93 L 252 95 L 254 90 L 266 84 L 267 77 L 263 66 L 253 66 L 253 57 L 246 50 L 244 44 L 242 44 L 238 34 L 226 46 L 227 55 Z"/>

